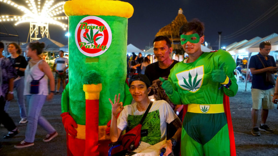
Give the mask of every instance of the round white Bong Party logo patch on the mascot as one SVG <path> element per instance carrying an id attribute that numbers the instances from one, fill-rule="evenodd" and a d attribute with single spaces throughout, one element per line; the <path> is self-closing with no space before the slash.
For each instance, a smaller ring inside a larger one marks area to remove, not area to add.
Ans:
<path id="1" fill-rule="evenodd" d="M 75 42 L 81 53 L 98 56 L 109 48 L 112 33 L 109 25 L 97 16 L 84 17 L 76 26 Z"/>

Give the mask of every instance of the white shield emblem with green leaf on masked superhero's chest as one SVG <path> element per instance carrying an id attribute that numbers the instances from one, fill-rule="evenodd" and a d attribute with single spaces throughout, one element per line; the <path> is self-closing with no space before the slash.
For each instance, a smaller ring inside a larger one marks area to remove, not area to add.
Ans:
<path id="1" fill-rule="evenodd" d="M 180 88 L 188 90 L 189 92 L 197 92 L 203 83 L 204 66 L 197 66 L 195 68 L 184 70 L 176 74 Z"/>

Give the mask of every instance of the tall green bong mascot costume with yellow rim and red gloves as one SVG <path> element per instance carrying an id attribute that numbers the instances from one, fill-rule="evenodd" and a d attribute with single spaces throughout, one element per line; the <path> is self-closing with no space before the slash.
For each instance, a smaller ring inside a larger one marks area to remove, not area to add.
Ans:
<path id="1" fill-rule="evenodd" d="M 62 118 L 68 155 L 105 155 L 115 94 L 124 105 L 132 97 L 127 73 L 127 18 L 133 7 L 110 0 L 71 0 L 69 16 L 69 83 L 62 94 Z"/>

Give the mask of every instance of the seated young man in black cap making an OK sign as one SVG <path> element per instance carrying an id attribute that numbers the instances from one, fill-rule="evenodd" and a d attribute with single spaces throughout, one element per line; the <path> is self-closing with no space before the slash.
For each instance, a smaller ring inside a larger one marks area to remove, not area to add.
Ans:
<path id="1" fill-rule="evenodd" d="M 110 140 L 117 142 L 122 131 L 126 129 L 133 129 L 136 127 L 145 113 L 145 110 L 151 103 L 148 98 L 148 94 L 151 91 L 150 81 L 147 76 L 142 74 L 133 75 L 129 81 L 129 91 L 136 103 L 126 105 L 123 107 L 120 102 L 120 94 L 115 95 L 114 103 L 109 99 L 112 105 L 112 119 L 110 127 Z M 118 113 L 120 113 L 118 119 Z M 140 151 L 157 144 L 166 139 L 167 123 L 173 124 L 177 131 L 175 135 L 166 140 L 166 143 L 160 146 L 166 148 L 164 155 L 169 155 L 172 152 L 172 146 L 180 140 L 182 122 L 174 113 L 170 105 L 164 101 L 153 101 L 149 112 L 142 124 L 140 144 L 134 152 Z M 142 132 L 145 135 L 142 135 Z"/>

